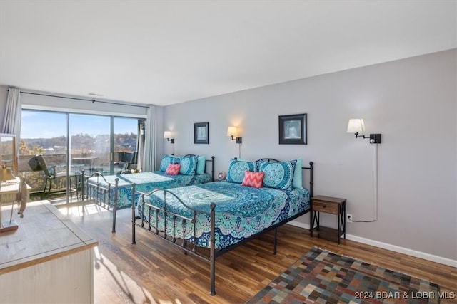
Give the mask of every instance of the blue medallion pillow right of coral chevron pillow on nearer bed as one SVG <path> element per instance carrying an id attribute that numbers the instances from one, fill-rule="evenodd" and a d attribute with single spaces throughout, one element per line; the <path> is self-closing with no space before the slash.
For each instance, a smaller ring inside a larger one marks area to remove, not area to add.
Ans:
<path id="1" fill-rule="evenodd" d="M 289 162 L 261 162 L 259 172 L 263 172 L 263 187 L 291 190 L 296 160 Z"/>

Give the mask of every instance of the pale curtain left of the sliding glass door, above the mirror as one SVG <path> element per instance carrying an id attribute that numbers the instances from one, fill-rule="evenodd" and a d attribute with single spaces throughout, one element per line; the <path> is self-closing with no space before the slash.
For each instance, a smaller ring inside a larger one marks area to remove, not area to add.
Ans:
<path id="1" fill-rule="evenodd" d="M 9 88 L 2 133 L 15 134 L 16 138 L 19 138 L 19 133 L 21 132 L 21 108 L 21 90 Z"/>

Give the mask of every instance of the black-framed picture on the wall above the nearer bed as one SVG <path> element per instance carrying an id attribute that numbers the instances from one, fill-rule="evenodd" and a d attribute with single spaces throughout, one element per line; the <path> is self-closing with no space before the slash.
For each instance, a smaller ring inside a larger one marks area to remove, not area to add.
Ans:
<path id="1" fill-rule="evenodd" d="M 279 116 L 279 144 L 306 145 L 306 114 Z"/>

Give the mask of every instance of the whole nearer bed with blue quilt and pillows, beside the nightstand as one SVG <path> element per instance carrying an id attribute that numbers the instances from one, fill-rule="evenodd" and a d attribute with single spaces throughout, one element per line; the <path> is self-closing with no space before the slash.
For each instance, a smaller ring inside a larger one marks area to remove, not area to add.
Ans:
<path id="1" fill-rule="evenodd" d="M 303 170 L 309 170 L 308 189 L 302 187 Z M 301 159 L 233 159 L 223 182 L 146 193 L 135 187 L 132 192 L 140 198 L 131 202 L 132 243 L 140 227 L 209 262 L 209 294 L 214 295 L 217 257 L 271 230 L 276 254 L 278 226 L 306 213 L 311 223 L 313 162 L 302 167 Z"/>

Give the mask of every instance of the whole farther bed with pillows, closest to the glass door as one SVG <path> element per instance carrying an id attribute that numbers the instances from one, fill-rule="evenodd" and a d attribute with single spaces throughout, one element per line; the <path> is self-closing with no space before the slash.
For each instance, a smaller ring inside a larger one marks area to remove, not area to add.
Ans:
<path id="1" fill-rule="evenodd" d="M 206 163 L 211 162 L 211 174 L 206 173 Z M 170 169 L 173 167 L 173 169 Z M 84 177 L 84 174 L 82 174 Z M 171 189 L 214 181 L 214 156 L 186 154 L 183 157 L 164 155 L 159 170 L 131 174 L 104 176 L 95 172 L 82 182 L 86 199 L 113 212 L 112 231 L 116 232 L 116 211 L 131 207 L 139 199 L 132 193 L 132 184 L 142 192 L 154 189 Z M 84 200 L 84 195 L 83 195 Z"/>

